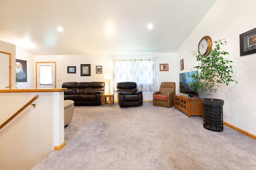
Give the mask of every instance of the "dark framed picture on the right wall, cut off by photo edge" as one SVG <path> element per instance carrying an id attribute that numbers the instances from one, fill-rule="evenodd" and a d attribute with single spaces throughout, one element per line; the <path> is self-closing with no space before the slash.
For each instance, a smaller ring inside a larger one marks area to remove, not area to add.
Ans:
<path id="1" fill-rule="evenodd" d="M 256 53 L 256 28 L 240 34 L 240 56 Z"/>

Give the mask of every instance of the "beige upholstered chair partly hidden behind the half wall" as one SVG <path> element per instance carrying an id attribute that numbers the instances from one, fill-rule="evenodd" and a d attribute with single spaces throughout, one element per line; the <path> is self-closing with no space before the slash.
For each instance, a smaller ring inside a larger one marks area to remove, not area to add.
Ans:
<path id="1" fill-rule="evenodd" d="M 67 127 L 68 124 L 72 121 L 73 113 L 74 101 L 64 100 L 64 127 Z"/>

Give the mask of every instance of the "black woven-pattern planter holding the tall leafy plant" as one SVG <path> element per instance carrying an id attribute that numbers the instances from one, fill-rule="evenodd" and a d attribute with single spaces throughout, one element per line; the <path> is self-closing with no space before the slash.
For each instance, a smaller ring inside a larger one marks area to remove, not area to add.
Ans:
<path id="1" fill-rule="evenodd" d="M 210 131 L 223 131 L 223 105 L 224 100 L 204 98 L 203 104 L 203 126 Z"/>

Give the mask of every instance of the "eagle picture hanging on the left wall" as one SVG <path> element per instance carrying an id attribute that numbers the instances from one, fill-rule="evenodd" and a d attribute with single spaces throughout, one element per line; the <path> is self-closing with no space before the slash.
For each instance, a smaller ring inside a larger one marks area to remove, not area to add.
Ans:
<path id="1" fill-rule="evenodd" d="M 27 61 L 16 59 L 16 82 L 27 82 Z"/>

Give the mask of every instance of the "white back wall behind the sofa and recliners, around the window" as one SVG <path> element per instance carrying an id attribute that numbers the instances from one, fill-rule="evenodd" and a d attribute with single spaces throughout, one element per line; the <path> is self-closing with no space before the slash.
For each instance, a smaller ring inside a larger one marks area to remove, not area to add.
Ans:
<path id="1" fill-rule="evenodd" d="M 176 80 L 176 54 L 175 53 L 148 53 L 132 54 L 135 57 L 157 57 L 157 88 L 161 82 L 174 82 Z M 122 55 L 123 56 L 123 55 Z M 129 55 L 131 56 L 131 55 Z M 108 93 L 108 80 L 104 80 L 105 73 L 112 74 L 112 57 L 110 55 L 37 55 L 34 56 L 36 62 L 56 61 L 56 88 L 61 88 L 64 82 L 105 82 L 105 92 Z M 159 64 L 169 64 L 169 71 L 161 71 Z M 80 76 L 80 64 L 91 64 L 91 76 Z M 76 66 L 76 74 L 68 74 L 67 66 Z M 102 66 L 102 74 L 96 73 L 96 66 Z M 35 70 L 34 67 L 34 77 Z M 113 81 L 110 80 L 110 92 L 113 92 Z M 35 87 L 35 82 L 34 82 Z M 153 100 L 152 91 L 143 92 L 143 100 Z M 115 93 L 114 100 L 117 100 Z"/>

